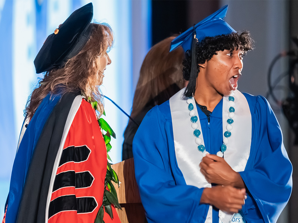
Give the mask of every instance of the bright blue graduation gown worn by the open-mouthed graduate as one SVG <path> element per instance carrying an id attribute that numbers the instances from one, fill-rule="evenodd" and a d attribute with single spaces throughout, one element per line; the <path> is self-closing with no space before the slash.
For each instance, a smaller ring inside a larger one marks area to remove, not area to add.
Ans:
<path id="1" fill-rule="evenodd" d="M 250 156 L 239 172 L 247 188 L 246 222 L 276 222 L 292 189 L 292 165 L 283 146 L 277 119 L 262 96 L 244 93 L 252 115 Z M 207 116 L 197 107 L 206 151 L 222 144 L 222 100 Z M 148 223 L 204 223 L 209 205 L 200 204 L 204 188 L 186 185 L 175 156 L 169 101 L 155 106 L 143 119 L 133 142 L 136 181 Z M 212 222 L 218 223 L 213 208 Z"/>

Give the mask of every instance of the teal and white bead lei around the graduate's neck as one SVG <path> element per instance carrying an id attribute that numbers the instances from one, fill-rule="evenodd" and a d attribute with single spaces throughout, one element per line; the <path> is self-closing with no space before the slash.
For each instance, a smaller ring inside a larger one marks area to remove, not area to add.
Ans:
<path id="1" fill-rule="evenodd" d="M 228 138 L 231 136 L 231 132 L 230 131 L 233 128 L 232 127 L 232 123 L 234 122 L 233 118 L 235 116 L 235 113 L 234 113 L 235 112 L 235 108 L 234 108 L 234 106 L 235 106 L 235 102 L 234 102 L 235 98 L 233 97 L 233 95 L 234 95 L 234 92 L 229 96 L 229 106 L 230 106 L 230 108 L 229 108 L 229 114 L 228 114 L 229 119 L 226 121 L 228 123 L 226 125 L 226 130 L 227 131 L 224 132 L 224 139 L 223 139 L 223 144 L 221 145 L 221 151 L 218 151 L 216 153 L 216 155 L 219 156 L 219 157 L 223 157 L 224 156 L 224 152 L 226 151 L 226 148 L 227 148 L 226 145 L 229 143 L 229 139 Z M 202 142 L 203 142 L 202 138 L 199 137 L 201 135 L 201 131 L 198 129 L 198 123 L 197 123 L 198 117 L 195 115 L 194 105 L 193 105 L 194 104 L 194 100 L 191 99 L 191 98 L 188 98 L 187 99 L 187 103 L 188 103 L 188 110 L 190 110 L 189 115 L 190 115 L 190 121 L 192 122 L 191 127 L 193 129 L 195 129 L 193 131 L 193 135 L 196 137 L 195 138 L 195 143 L 198 145 L 198 150 L 200 152 L 202 152 L 202 156 L 204 157 L 204 156 L 206 156 L 209 153 L 205 150 L 205 146 L 202 145 Z"/>

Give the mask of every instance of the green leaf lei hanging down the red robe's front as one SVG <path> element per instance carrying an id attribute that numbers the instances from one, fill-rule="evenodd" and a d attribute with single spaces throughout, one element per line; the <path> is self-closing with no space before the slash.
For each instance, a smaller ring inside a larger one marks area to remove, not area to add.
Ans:
<path id="1" fill-rule="evenodd" d="M 91 98 L 89 97 L 88 100 L 90 101 Z M 91 101 L 90 104 L 91 104 L 92 108 L 94 108 L 96 110 L 97 101 Z M 105 112 L 103 112 L 103 115 L 105 115 Z M 116 139 L 116 134 L 113 131 L 113 129 L 110 127 L 110 125 L 103 118 L 100 118 L 97 121 L 100 126 L 101 132 L 103 134 L 105 146 L 107 148 L 107 158 L 110 161 L 112 161 L 110 156 L 108 155 L 108 152 L 112 148 L 112 146 L 110 144 L 111 136 L 114 139 Z M 104 134 L 104 131 L 106 132 L 106 134 Z M 115 189 L 112 181 L 115 182 L 116 184 L 118 184 L 118 187 L 120 186 L 117 173 L 114 171 L 114 169 L 112 169 L 111 164 L 108 161 L 107 162 L 107 173 L 105 175 L 105 187 L 104 187 L 105 189 L 104 189 L 104 193 L 103 193 L 103 204 L 100 206 L 99 211 L 97 212 L 94 223 L 105 223 L 103 221 L 103 214 L 104 214 L 103 208 L 105 208 L 105 212 L 108 213 L 108 215 L 111 217 L 111 219 L 113 219 L 113 211 L 112 211 L 111 205 L 113 204 L 116 208 L 121 209 L 121 206 L 119 205 L 119 202 L 118 202 L 117 192 L 116 192 L 116 189 Z M 107 190 L 107 188 L 108 188 L 108 190 Z"/>

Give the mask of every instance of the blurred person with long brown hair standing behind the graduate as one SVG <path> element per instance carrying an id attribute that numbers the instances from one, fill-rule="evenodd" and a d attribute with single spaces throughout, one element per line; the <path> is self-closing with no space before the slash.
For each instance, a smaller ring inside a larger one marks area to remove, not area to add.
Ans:
<path id="1" fill-rule="evenodd" d="M 146 113 L 160 105 L 185 87 L 182 75 L 183 49 L 169 52 L 171 41 L 168 37 L 156 43 L 145 56 L 140 70 L 138 84 L 134 93 L 131 117 L 140 124 Z M 129 120 L 124 131 L 122 160 L 133 157 L 132 142 L 138 125 Z"/>

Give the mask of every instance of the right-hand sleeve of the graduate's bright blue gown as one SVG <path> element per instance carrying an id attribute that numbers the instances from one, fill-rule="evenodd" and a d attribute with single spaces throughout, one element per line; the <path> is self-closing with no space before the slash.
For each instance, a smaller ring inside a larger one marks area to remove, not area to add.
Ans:
<path id="1" fill-rule="evenodd" d="M 259 211 L 246 210 L 248 222 L 259 212 L 266 223 L 276 222 L 292 190 L 292 165 L 283 145 L 280 125 L 268 103 L 257 96 L 252 112 L 252 145 L 246 169 L 239 172 Z"/>

